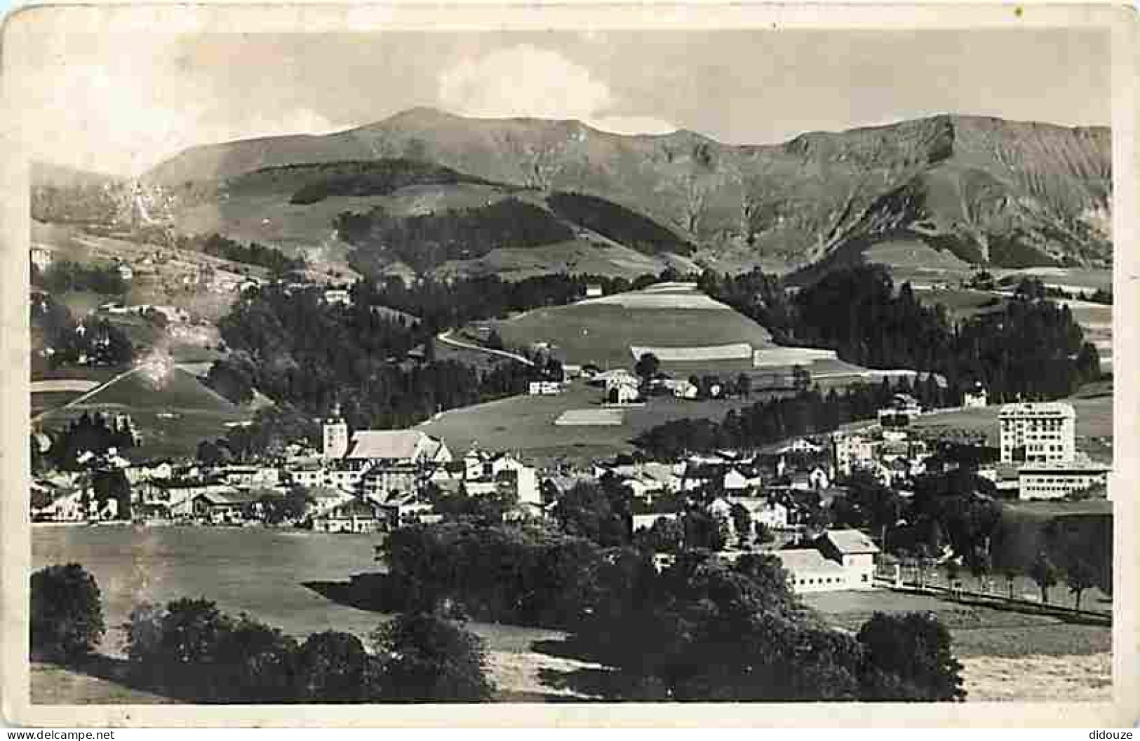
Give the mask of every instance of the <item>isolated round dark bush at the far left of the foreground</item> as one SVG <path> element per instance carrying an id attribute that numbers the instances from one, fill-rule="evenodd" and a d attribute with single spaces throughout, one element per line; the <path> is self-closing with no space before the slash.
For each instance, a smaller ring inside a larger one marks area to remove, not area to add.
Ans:
<path id="1" fill-rule="evenodd" d="M 75 661 L 103 640 L 103 603 L 95 577 L 78 563 L 32 575 L 32 650 L 56 661 Z"/>

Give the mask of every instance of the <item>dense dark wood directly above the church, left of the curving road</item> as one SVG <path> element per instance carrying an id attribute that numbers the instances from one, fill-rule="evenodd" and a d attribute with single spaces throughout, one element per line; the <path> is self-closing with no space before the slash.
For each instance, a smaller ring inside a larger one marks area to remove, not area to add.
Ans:
<path id="1" fill-rule="evenodd" d="M 521 393 L 532 373 L 512 361 L 483 372 L 431 357 L 408 361 L 413 348 L 430 345 L 423 321 L 364 301 L 327 304 L 318 291 L 279 285 L 249 292 L 219 331 L 231 350 L 207 376 L 219 392 L 245 401 L 255 388 L 315 416 L 340 402 L 355 427 L 405 427 L 440 409 Z"/>

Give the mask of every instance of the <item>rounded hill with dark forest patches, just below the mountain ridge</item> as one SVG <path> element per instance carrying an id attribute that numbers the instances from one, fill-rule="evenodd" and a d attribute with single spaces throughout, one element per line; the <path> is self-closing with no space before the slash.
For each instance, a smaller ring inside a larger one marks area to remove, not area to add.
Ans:
<path id="1" fill-rule="evenodd" d="M 182 233 L 218 231 L 372 274 L 634 277 L 693 267 L 683 259 L 693 245 L 629 209 L 402 157 L 264 168 L 184 188 L 176 202 Z"/>

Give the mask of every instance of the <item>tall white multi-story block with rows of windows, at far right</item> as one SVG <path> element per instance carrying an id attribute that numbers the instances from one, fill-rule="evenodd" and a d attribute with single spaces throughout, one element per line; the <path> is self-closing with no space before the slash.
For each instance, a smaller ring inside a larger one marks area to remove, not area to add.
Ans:
<path id="1" fill-rule="evenodd" d="M 997 414 L 1002 463 L 1058 463 L 1076 457 L 1076 412 L 1068 404 L 1007 404 Z"/>

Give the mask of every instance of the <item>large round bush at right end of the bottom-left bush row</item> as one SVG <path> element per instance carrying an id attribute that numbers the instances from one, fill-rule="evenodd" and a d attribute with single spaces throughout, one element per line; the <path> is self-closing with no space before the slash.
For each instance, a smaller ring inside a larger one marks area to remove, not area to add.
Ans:
<path id="1" fill-rule="evenodd" d="M 495 694 L 482 638 L 441 617 L 402 613 L 372 638 L 388 702 L 486 702 Z"/>

